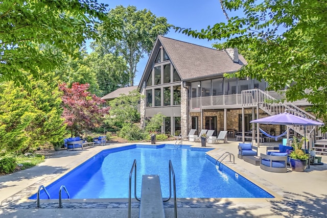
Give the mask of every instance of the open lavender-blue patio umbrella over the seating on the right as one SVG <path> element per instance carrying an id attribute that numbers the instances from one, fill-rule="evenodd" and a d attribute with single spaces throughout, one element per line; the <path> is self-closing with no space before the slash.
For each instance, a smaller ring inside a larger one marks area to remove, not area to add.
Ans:
<path id="1" fill-rule="evenodd" d="M 291 113 L 280 113 L 277 115 L 267 116 L 260 119 L 254 119 L 251 120 L 250 123 L 256 123 L 256 124 L 274 124 L 274 125 L 292 125 L 292 126 L 304 126 L 304 132 L 305 132 L 305 149 L 307 147 L 306 142 L 306 128 L 307 126 L 322 126 L 323 123 L 317 122 L 312 119 L 308 119 L 305 117 L 297 116 Z M 310 148 L 309 148 L 310 152 Z M 309 153 L 310 156 L 310 153 Z M 310 160 L 309 160 L 310 164 Z M 309 165 L 310 166 L 310 165 Z"/>

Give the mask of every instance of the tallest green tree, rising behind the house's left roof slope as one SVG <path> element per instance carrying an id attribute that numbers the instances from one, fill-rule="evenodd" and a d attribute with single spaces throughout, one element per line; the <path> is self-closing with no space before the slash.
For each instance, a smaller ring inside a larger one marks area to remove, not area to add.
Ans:
<path id="1" fill-rule="evenodd" d="M 157 35 L 167 34 L 171 25 L 165 17 L 156 17 L 147 9 L 138 11 L 134 6 L 117 6 L 109 11 L 108 16 L 122 23 L 119 29 L 122 37 L 112 41 L 102 36 L 91 47 L 100 55 L 113 53 L 122 56 L 128 65 L 129 83 L 133 86 L 137 63 L 144 54 L 151 52 Z M 99 29 L 101 35 L 107 31 L 105 25 Z"/>

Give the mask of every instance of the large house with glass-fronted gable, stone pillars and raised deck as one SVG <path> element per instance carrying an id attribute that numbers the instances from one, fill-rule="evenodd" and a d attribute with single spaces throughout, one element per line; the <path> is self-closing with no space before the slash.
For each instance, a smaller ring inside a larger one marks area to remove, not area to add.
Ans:
<path id="1" fill-rule="evenodd" d="M 233 137 L 251 131 L 254 124 L 249 121 L 256 117 L 289 107 L 305 112 L 298 106 L 305 107 L 306 101 L 292 106 L 267 105 L 267 99 L 280 99 L 281 95 L 265 91 L 265 81 L 223 77 L 245 64 L 237 49 L 216 50 L 158 36 L 138 85 L 145 96 L 140 106 L 141 126 L 145 119 L 162 113 L 166 116 L 162 132 L 166 134 L 188 135 L 190 129 L 207 129 L 215 130 L 214 135 L 227 130 Z M 278 134 L 285 126 L 271 128 Z"/>

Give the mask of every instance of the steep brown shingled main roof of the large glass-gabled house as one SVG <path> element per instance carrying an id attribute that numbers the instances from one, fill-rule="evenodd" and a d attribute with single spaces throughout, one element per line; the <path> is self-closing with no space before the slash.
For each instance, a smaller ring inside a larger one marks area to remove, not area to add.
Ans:
<path id="1" fill-rule="evenodd" d="M 246 64 L 241 55 L 239 62 L 233 62 L 225 50 L 210 49 L 164 36 L 158 36 L 158 39 L 182 80 L 238 71 Z"/>

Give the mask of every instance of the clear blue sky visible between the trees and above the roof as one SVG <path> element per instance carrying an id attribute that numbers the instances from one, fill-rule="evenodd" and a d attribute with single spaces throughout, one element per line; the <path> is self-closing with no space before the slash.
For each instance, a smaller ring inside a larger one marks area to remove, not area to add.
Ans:
<path id="1" fill-rule="evenodd" d="M 99 3 L 109 5 L 109 9 L 118 5 L 127 7 L 135 6 L 137 10 L 148 9 L 157 17 L 166 17 L 168 23 L 183 28 L 194 30 L 206 29 L 208 25 L 213 26 L 218 22 L 225 22 L 226 17 L 222 13 L 218 0 L 186 1 L 186 0 L 98 0 Z M 190 42 L 206 47 L 212 47 L 213 42 L 205 39 L 194 39 L 182 33 L 175 33 L 171 30 L 166 37 Z M 138 85 L 141 80 L 148 57 L 145 57 L 137 64 L 134 84 Z"/>

